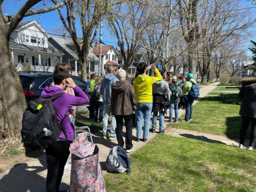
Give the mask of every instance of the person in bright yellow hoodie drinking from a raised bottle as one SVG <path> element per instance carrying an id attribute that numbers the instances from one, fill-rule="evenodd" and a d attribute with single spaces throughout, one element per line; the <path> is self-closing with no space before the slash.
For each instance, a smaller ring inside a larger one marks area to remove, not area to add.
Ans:
<path id="1" fill-rule="evenodd" d="M 141 139 L 142 119 L 144 117 L 143 142 L 148 139 L 150 115 L 152 112 L 153 96 L 152 84 L 162 80 L 162 75 L 155 64 L 151 68 L 156 73 L 156 77 L 146 75 L 147 65 L 142 62 L 137 66 L 139 75 L 133 81 L 133 87 L 137 98 L 137 141 Z"/>

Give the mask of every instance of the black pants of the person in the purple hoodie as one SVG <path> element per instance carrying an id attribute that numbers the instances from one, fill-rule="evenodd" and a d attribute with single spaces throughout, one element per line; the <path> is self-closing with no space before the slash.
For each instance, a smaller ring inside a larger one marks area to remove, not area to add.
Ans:
<path id="1" fill-rule="evenodd" d="M 46 191 L 58 192 L 63 176 L 64 166 L 69 157 L 71 141 L 55 141 L 53 146 L 46 149 L 47 177 Z"/>

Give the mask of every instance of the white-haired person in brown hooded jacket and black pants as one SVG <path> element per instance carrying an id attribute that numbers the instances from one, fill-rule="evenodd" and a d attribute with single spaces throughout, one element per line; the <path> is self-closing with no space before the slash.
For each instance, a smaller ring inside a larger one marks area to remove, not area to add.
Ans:
<path id="1" fill-rule="evenodd" d="M 116 81 L 112 88 L 111 111 L 117 121 L 117 141 L 123 147 L 123 119 L 126 127 L 125 147 L 126 152 L 134 151 L 132 144 L 133 114 L 136 110 L 136 96 L 133 86 L 126 81 L 126 72 L 119 69 L 116 73 L 119 81 Z"/>

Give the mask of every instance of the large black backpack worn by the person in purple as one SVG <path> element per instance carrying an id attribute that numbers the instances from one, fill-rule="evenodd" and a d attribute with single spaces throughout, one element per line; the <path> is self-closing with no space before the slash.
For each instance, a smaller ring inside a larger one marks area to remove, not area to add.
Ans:
<path id="1" fill-rule="evenodd" d="M 22 142 L 33 150 L 46 149 L 51 146 L 63 130 L 67 138 L 66 130 L 63 128 L 64 119 L 61 126 L 58 124 L 56 112 L 53 108 L 53 100 L 63 95 L 56 94 L 50 98 L 39 97 L 31 100 L 25 109 L 22 117 L 21 138 Z M 45 136 L 43 129 L 47 128 L 52 134 Z"/>

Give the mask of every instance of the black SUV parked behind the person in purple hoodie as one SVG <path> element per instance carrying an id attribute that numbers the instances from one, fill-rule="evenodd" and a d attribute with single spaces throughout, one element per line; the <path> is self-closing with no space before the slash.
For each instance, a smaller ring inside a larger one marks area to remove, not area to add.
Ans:
<path id="1" fill-rule="evenodd" d="M 49 72 L 26 72 L 19 73 L 22 83 L 24 95 L 27 103 L 35 98 L 38 98 L 46 86 L 53 82 L 53 73 Z M 75 84 L 82 90 L 85 90 L 85 81 L 77 76 L 71 76 Z M 87 103 L 90 106 L 90 103 Z"/>

